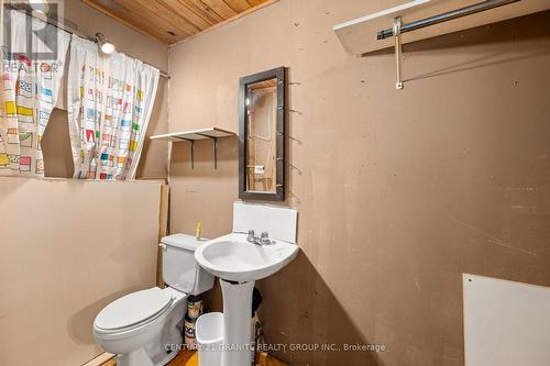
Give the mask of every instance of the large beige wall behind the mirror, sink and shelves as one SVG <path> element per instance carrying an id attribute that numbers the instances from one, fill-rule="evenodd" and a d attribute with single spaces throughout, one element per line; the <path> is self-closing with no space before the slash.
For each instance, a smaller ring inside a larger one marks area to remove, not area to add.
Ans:
<path id="1" fill-rule="evenodd" d="M 550 13 L 345 55 L 332 25 L 396 1 L 282 0 L 170 49 L 172 131 L 238 130 L 239 77 L 289 67 L 288 204 L 302 254 L 258 286 L 295 365 L 463 365 L 461 273 L 550 285 Z M 176 144 L 173 231 L 231 230 L 237 140 Z M 213 295 L 219 307 L 219 292 Z"/>

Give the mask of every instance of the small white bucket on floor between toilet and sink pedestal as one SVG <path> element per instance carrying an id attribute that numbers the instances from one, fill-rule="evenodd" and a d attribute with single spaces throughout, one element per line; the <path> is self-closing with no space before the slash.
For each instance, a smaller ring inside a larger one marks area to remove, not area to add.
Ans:
<path id="1" fill-rule="evenodd" d="M 223 344 L 223 313 L 209 312 L 197 319 L 195 336 L 199 346 L 199 366 L 220 366 Z"/>

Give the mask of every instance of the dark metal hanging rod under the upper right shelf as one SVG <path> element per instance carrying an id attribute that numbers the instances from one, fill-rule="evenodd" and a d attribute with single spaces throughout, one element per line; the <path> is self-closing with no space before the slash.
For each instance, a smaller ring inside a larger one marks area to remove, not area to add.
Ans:
<path id="1" fill-rule="evenodd" d="M 408 24 L 403 24 L 400 26 L 399 33 L 403 34 L 403 33 L 411 32 L 415 30 L 419 30 L 421 27 L 448 22 L 448 21 L 451 21 L 451 20 L 454 20 L 458 18 L 475 14 L 475 13 L 479 13 L 479 12 L 482 12 L 485 10 L 498 8 L 502 5 L 507 5 L 509 3 L 514 3 L 514 2 L 518 2 L 518 1 L 521 1 L 521 0 L 485 0 L 485 1 L 482 1 L 479 3 L 475 3 L 473 5 L 452 10 L 452 11 L 449 11 L 447 13 L 442 13 L 439 15 L 433 15 L 430 18 L 421 19 L 421 20 L 418 20 L 416 22 L 411 22 Z M 388 38 L 391 36 L 394 36 L 394 29 L 393 27 L 384 30 L 384 31 L 380 31 L 376 34 L 376 38 L 378 41 Z"/>

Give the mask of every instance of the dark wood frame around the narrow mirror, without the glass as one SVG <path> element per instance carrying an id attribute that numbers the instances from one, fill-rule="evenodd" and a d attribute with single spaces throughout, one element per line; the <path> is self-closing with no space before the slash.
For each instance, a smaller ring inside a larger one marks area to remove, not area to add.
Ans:
<path id="1" fill-rule="evenodd" d="M 277 122 L 276 122 L 276 190 L 262 192 L 248 190 L 248 156 L 249 141 L 246 97 L 248 86 L 251 84 L 277 79 Z M 285 200 L 285 125 L 286 125 L 286 69 L 274 68 L 267 71 L 249 75 L 240 79 L 239 86 L 239 197 L 242 199 L 257 199 L 266 201 Z"/>

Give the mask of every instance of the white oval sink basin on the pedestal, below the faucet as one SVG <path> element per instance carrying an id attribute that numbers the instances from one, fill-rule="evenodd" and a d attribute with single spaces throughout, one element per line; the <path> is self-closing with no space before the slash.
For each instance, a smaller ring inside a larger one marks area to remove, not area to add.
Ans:
<path id="1" fill-rule="evenodd" d="M 244 282 L 278 271 L 298 255 L 298 245 L 282 241 L 255 245 L 246 242 L 246 234 L 232 233 L 199 245 L 195 258 L 215 276 Z"/>

